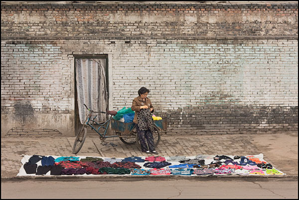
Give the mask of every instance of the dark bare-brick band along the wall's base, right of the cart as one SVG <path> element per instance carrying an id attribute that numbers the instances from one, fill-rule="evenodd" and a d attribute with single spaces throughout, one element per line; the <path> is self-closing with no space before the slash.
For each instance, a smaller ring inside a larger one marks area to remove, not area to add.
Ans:
<path id="1" fill-rule="evenodd" d="M 298 131 L 298 106 L 203 105 L 159 112 L 167 135 L 263 134 Z"/>

